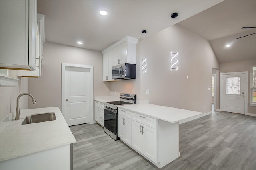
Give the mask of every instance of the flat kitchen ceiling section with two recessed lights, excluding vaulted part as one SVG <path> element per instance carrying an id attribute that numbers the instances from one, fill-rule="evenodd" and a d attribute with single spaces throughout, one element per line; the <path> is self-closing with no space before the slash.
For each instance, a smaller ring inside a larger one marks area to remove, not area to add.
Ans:
<path id="1" fill-rule="evenodd" d="M 193 16 L 221 0 L 38 0 L 46 41 L 102 51 L 129 35 L 142 38 Z M 108 12 L 101 16 L 100 10 Z M 84 44 L 78 45 L 76 42 Z"/>

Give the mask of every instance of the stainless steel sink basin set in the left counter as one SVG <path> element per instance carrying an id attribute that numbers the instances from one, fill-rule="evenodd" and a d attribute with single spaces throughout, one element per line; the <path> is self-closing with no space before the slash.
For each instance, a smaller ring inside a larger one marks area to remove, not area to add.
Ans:
<path id="1" fill-rule="evenodd" d="M 21 124 L 26 125 L 31 123 L 39 123 L 39 122 L 53 121 L 53 120 L 56 120 L 55 113 L 48 112 L 48 113 L 41 113 L 36 115 L 28 115 Z"/>

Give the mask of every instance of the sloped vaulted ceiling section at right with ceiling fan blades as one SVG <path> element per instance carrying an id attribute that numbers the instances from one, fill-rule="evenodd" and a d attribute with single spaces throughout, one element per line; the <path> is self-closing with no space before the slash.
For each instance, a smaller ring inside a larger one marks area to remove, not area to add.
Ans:
<path id="1" fill-rule="evenodd" d="M 256 59 L 256 0 L 225 0 L 178 23 L 210 41 L 220 63 Z M 230 47 L 226 47 L 230 44 Z"/>

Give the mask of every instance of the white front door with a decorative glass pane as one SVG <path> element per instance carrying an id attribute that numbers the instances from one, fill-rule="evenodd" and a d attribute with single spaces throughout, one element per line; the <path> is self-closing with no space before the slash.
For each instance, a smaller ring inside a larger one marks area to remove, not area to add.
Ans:
<path id="1" fill-rule="evenodd" d="M 222 75 L 222 111 L 245 114 L 245 74 Z"/>

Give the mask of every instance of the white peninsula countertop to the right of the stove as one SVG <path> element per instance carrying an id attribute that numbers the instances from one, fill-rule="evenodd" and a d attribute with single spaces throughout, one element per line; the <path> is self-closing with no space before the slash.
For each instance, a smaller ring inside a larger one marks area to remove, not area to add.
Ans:
<path id="1" fill-rule="evenodd" d="M 203 114 L 197 111 L 159 106 L 154 104 L 131 104 L 118 106 L 118 108 L 127 109 L 134 113 L 139 113 L 163 121 L 168 121 L 170 123 L 176 123 Z"/>

